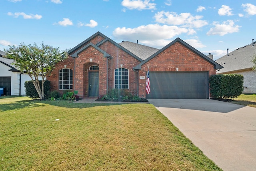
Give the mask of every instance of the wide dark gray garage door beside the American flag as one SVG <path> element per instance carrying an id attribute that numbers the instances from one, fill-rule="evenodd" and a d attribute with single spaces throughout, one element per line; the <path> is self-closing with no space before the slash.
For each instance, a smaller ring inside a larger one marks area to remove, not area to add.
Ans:
<path id="1" fill-rule="evenodd" d="M 150 72 L 150 94 L 146 98 L 209 98 L 208 72 Z"/>

